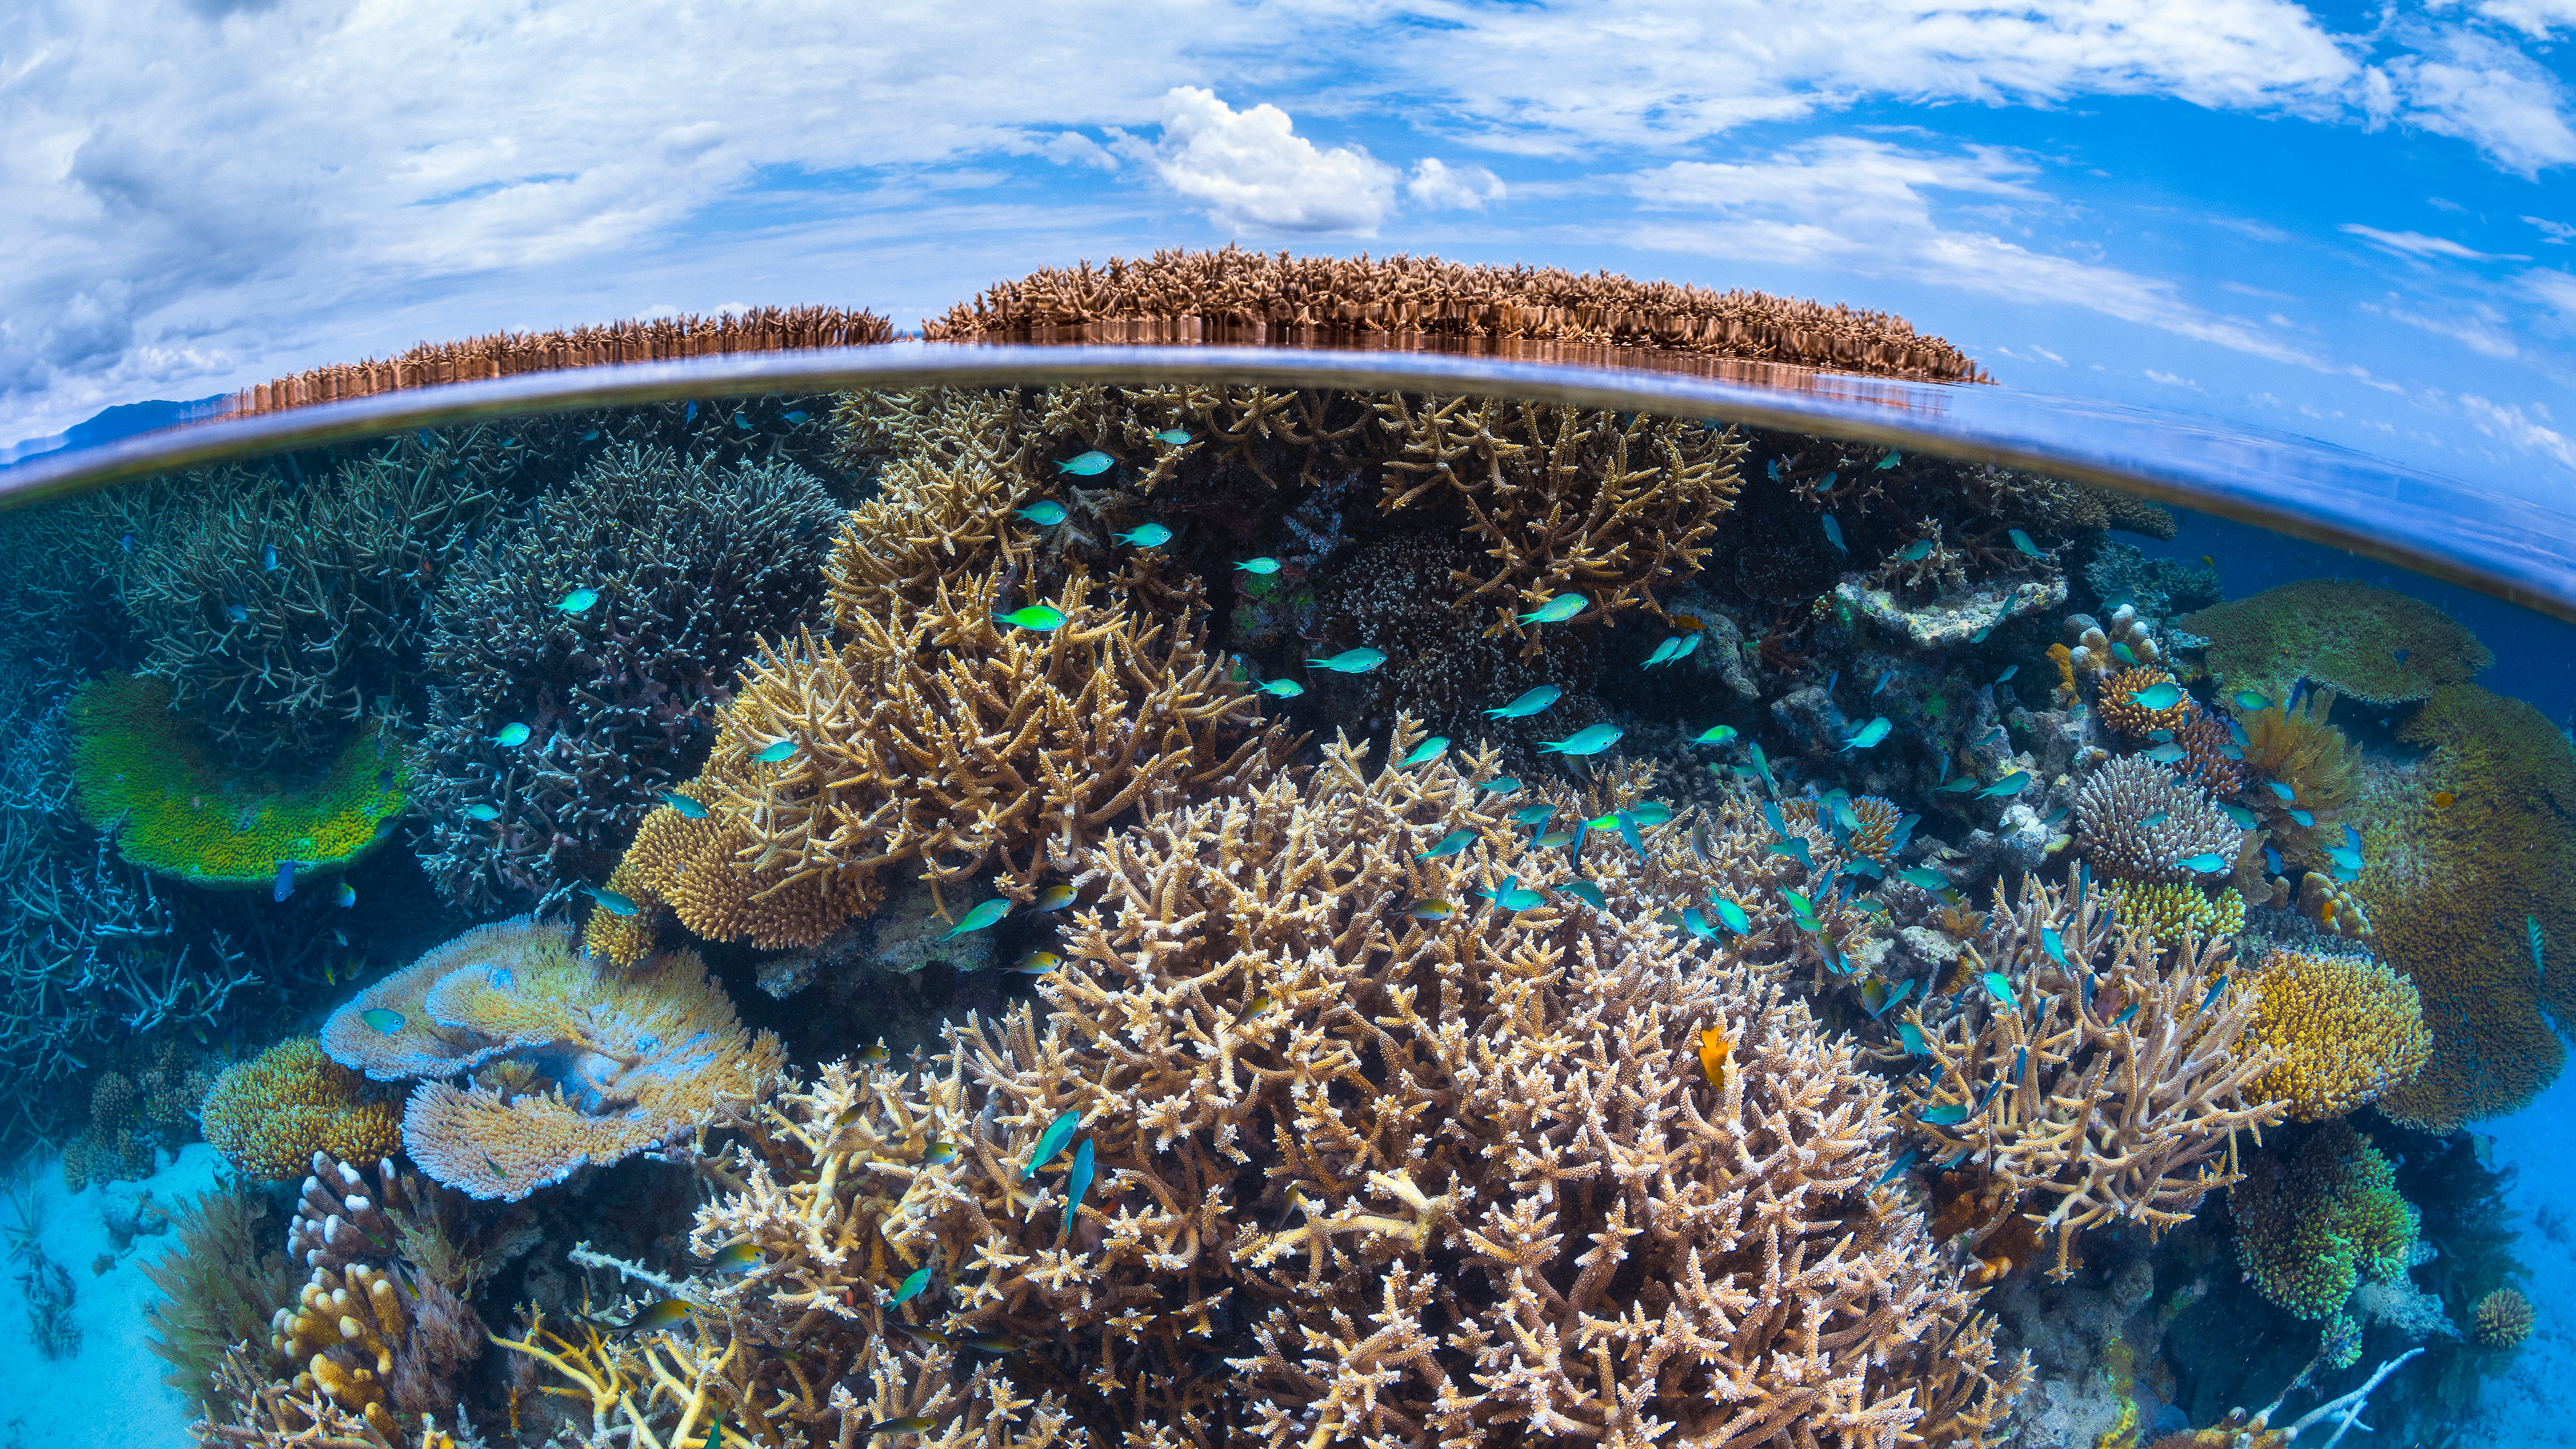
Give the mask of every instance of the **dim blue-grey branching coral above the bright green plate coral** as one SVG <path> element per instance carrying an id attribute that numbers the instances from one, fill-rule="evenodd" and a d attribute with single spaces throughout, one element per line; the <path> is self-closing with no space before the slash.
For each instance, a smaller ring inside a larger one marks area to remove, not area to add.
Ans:
<path id="1" fill-rule="evenodd" d="M 404 433 L 289 487 L 240 469 L 139 541 L 126 606 L 167 678 L 240 753 L 319 755 L 397 706 L 420 673 L 428 596 L 500 508 L 448 441 Z"/>

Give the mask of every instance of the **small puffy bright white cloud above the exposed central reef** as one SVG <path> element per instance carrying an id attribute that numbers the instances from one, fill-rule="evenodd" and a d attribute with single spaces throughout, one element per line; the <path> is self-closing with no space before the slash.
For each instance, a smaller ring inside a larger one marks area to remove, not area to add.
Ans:
<path id="1" fill-rule="evenodd" d="M 1396 201 L 1396 170 L 1365 150 L 1316 150 L 1278 106 L 1236 111 L 1198 85 L 1175 85 L 1162 139 L 1133 150 L 1218 227 L 1373 237 Z"/>

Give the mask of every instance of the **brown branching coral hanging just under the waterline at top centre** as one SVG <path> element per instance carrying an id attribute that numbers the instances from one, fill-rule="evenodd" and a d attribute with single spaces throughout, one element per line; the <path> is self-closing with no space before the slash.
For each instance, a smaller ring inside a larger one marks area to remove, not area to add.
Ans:
<path id="1" fill-rule="evenodd" d="M 1703 423 L 1499 397 L 1388 394 L 1378 413 L 1394 436 L 1378 508 L 1450 498 L 1489 544 L 1492 567 L 1453 575 L 1461 603 L 1494 606 L 1486 634 L 1525 637 L 1517 614 L 1558 593 L 1589 616 L 1662 614 L 1656 583 L 1700 567 L 1741 485 L 1744 443 Z"/>

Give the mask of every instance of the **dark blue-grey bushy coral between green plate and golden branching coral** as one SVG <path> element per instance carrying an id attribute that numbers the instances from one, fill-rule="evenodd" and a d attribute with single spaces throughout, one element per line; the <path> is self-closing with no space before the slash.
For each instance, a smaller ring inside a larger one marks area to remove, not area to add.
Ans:
<path id="1" fill-rule="evenodd" d="M 603 879 L 696 766 L 755 639 L 814 614 L 840 521 L 793 464 L 711 469 L 629 443 L 451 570 L 428 642 L 417 846 L 443 895 L 489 910 Z M 598 601 L 559 608 L 577 588 Z M 513 724 L 528 737 L 505 743 Z M 469 817 L 474 804 L 497 815 Z"/>

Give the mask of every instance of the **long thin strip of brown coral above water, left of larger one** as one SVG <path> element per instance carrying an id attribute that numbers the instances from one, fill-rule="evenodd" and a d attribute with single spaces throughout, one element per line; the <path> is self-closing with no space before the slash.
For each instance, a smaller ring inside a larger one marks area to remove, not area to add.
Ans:
<path id="1" fill-rule="evenodd" d="M 232 394 L 227 413 L 278 413 L 404 387 L 477 382 L 572 366 L 672 361 L 791 348 L 860 348 L 894 340 L 894 322 L 840 307 L 747 307 L 716 317 L 654 317 L 569 333 L 489 333 L 461 343 L 420 343 L 386 361 L 332 364 L 260 382 Z"/>

